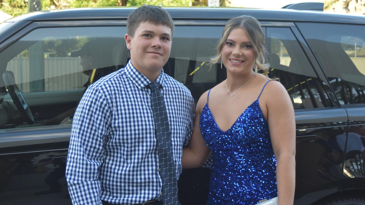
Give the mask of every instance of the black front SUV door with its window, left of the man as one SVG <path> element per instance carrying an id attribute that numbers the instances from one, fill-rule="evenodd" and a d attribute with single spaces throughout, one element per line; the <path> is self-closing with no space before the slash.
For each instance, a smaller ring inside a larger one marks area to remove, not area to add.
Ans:
<path id="1" fill-rule="evenodd" d="M 71 204 L 73 113 L 87 86 L 124 66 L 124 33 L 120 20 L 33 22 L 0 44 L 1 204 Z"/>

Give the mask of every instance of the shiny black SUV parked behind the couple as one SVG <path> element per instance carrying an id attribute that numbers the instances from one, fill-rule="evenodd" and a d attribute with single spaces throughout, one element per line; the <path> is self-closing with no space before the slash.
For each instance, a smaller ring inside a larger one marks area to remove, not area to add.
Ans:
<path id="1" fill-rule="evenodd" d="M 0 24 L 1 205 L 71 204 L 64 176 L 73 112 L 85 87 L 127 63 L 133 9 L 42 11 Z M 227 20 L 257 18 L 269 75 L 280 78 L 295 108 L 295 204 L 365 204 L 365 16 L 166 9 L 176 29 L 164 71 L 195 100 L 226 77 L 220 64 L 209 70 L 207 63 Z M 95 57 L 85 68 L 74 51 L 88 42 Z M 204 204 L 209 174 L 183 171 L 183 204 Z"/>

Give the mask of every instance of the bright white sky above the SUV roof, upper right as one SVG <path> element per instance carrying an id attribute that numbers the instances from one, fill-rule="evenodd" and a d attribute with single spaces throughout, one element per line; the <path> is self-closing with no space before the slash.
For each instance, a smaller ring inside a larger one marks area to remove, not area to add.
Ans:
<path id="1" fill-rule="evenodd" d="M 324 2 L 324 0 L 230 0 L 233 7 L 278 9 L 288 4 L 301 2 Z"/>

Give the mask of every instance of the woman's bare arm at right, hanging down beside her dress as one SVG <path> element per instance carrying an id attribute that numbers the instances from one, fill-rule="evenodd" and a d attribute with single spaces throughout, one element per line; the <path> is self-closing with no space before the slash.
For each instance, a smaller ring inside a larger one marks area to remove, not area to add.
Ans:
<path id="1" fill-rule="evenodd" d="M 267 86 L 266 107 L 270 138 L 277 159 L 279 205 L 292 205 L 295 190 L 295 116 L 288 92 L 277 81 Z"/>

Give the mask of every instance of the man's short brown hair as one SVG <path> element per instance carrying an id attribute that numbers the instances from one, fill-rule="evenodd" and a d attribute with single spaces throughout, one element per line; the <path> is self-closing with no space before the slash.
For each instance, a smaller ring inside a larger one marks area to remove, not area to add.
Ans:
<path id="1" fill-rule="evenodd" d="M 134 36 L 135 30 L 143 22 L 152 24 L 162 24 L 171 29 L 171 35 L 174 32 L 174 23 L 169 13 L 158 6 L 143 5 L 130 13 L 127 19 L 127 34 Z"/>

